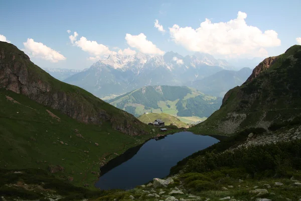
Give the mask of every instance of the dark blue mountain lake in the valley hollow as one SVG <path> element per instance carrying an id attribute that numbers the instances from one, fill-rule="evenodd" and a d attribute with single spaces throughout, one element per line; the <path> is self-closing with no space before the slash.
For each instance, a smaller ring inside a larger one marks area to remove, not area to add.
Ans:
<path id="1" fill-rule="evenodd" d="M 153 178 L 166 177 L 178 161 L 217 142 L 213 137 L 191 132 L 149 140 L 109 161 L 100 169 L 103 175 L 95 185 L 100 189 L 131 189 Z"/>

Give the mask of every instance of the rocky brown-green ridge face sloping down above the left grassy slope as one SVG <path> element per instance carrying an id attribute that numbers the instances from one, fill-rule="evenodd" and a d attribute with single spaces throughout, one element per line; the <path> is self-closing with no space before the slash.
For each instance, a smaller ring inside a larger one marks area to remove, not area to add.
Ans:
<path id="1" fill-rule="evenodd" d="M 0 42 L 0 87 L 24 94 L 80 122 L 101 125 L 109 121 L 120 132 L 144 133 L 142 129 L 135 129 L 138 125 L 142 128 L 143 124 L 133 116 L 79 87 L 56 80 L 32 63 L 24 52 L 5 42 Z"/>

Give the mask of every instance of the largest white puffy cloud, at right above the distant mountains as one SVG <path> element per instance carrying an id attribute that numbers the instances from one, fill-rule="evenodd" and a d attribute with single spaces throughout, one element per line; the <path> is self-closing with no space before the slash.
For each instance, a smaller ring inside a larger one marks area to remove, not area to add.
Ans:
<path id="1" fill-rule="evenodd" d="M 238 12 L 237 18 L 229 22 L 211 23 L 206 19 L 197 29 L 175 24 L 169 30 L 172 40 L 190 51 L 225 57 L 266 57 L 264 48 L 281 45 L 275 31 L 262 32 L 248 26 L 246 17 L 246 13 Z"/>

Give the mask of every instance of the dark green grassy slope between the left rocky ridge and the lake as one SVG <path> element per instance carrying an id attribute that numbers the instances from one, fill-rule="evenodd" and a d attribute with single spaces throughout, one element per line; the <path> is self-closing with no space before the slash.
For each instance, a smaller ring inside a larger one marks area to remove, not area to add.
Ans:
<path id="1" fill-rule="evenodd" d="M 71 183 L 79 186 L 92 187 L 101 164 L 153 135 L 133 137 L 109 123 L 79 123 L 5 89 L 0 89 L 0 105 L 0 168 L 48 171 L 60 165 L 64 170 L 54 175 L 65 180 L 72 177 Z"/>

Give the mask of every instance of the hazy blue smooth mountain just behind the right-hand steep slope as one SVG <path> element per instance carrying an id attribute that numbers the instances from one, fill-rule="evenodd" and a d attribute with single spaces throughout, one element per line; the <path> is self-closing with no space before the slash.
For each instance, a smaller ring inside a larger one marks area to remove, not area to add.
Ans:
<path id="1" fill-rule="evenodd" d="M 223 97 L 228 90 L 244 83 L 251 73 L 250 68 L 242 68 L 239 71 L 221 70 L 203 79 L 187 82 L 186 85 L 205 94 Z"/>

